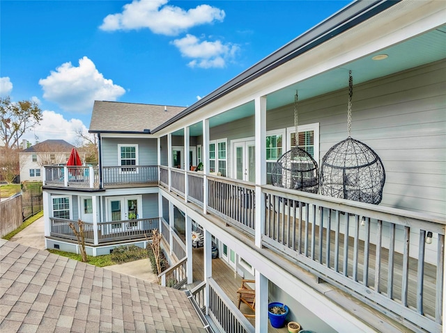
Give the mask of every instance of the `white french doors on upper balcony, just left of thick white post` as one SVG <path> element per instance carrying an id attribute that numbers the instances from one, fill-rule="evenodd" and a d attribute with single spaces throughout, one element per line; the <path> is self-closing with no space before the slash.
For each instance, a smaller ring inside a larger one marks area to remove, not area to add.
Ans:
<path id="1" fill-rule="evenodd" d="M 233 143 L 233 178 L 255 183 L 256 145 L 254 140 Z"/>

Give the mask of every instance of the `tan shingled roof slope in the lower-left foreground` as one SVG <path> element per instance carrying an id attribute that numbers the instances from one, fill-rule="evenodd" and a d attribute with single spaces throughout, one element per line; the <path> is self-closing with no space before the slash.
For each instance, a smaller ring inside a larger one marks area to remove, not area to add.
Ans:
<path id="1" fill-rule="evenodd" d="M 0 239 L 0 332 L 206 332 L 183 291 Z"/>

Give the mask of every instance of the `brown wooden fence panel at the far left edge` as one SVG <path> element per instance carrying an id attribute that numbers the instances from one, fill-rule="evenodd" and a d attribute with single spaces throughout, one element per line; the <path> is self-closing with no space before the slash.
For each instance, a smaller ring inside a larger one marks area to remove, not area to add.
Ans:
<path id="1" fill-rule="evenodd" d="M 0 237 L 22 225 L 22 195 L 18 194 L 0 202 Z"/>

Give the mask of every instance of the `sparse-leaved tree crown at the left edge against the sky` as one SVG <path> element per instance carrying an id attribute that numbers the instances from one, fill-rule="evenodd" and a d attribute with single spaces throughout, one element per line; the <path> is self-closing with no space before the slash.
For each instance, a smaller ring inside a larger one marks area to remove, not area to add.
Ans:
<path id="1" fill-rule="evenodd" d="M 6 149 L 17 147 L 26 130 L 42 120 L 42 110 L 34 101 L 11 102 L 10 97 L 0 97 L 0 140 Z"/>

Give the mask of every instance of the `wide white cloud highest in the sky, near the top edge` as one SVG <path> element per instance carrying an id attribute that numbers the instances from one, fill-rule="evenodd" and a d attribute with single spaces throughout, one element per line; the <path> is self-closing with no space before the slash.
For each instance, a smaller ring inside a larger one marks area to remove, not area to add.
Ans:
<path id="1" fill-rule="evenodd" d="M 105 31 L 151 29 L 162 35 L 178 35 L 193 26 L 222 22 L 224 10 L 209 5 L 184 10 L 177 6 L 164 6 L 168 0 L 137 1 L 123 6 L 123 12 L 105 17 L 100 29 Z"/>

